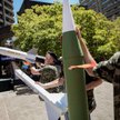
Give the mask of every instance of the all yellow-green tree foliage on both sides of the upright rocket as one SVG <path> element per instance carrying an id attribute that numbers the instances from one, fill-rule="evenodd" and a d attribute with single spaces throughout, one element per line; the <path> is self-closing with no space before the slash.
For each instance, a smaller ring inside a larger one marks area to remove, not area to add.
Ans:
<path id="1" fill-rule="evenodd" d="M 101 13 L 78 6 L 73 6 L 72 11 L 74 22 L 81 28 L 82 37 L 96 59 L 109 58 L 120 50 L 120 18 L 110 21 Z M 34 6 L 27 9 L 18 20 L 19 23 L 12 27 L 18 38 L 16 46 L 23 51 L 36 47 L 40 54 L 52 50 L 61 56 L 61 4 Z"/>

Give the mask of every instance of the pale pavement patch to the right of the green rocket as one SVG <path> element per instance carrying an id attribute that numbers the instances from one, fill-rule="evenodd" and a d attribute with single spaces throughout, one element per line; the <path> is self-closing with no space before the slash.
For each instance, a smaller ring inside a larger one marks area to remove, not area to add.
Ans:
<path id="1" fill-rule="evenodd" d="M 92 112 L 92 120 L 113 120 L 113 89 L 112 84 L 103 82 L 94 90 L 97 109 Z"/>

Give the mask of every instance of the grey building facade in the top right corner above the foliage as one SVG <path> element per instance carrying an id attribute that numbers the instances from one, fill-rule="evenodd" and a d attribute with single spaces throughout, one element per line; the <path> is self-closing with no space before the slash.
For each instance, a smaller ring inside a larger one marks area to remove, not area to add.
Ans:
<path id="1" fill-rule="evenodd" d="M 120 17 L 120 0 L 80 0 L 80 4 L 101 12 L 111 20 Z"/>

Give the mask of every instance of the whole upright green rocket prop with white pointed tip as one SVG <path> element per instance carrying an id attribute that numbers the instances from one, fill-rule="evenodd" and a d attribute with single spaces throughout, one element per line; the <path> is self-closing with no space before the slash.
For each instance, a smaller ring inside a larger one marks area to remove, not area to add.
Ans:
<path id="1" fill-rule="evenodd" d="M 68 94 L 70 120 L 88 120 L 88 102 L 84 72 L 82 69 L 68 70 L 72 64 L 83 63 L 83 53 L 76 36 L 69 0 L 63 0 L 62 57 Z"/>

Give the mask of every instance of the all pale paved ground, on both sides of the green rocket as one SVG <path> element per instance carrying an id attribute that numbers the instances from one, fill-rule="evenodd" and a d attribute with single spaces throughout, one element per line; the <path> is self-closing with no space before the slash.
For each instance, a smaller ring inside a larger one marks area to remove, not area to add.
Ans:
<path id="1" fill-rule="evenodd" d="M 112 84 L 103 82 L 94 94 L 92 120 L 113 120 Z M 0 92 L 0 120 L 48 120 L 44 102 L 29 90 Z"/>

